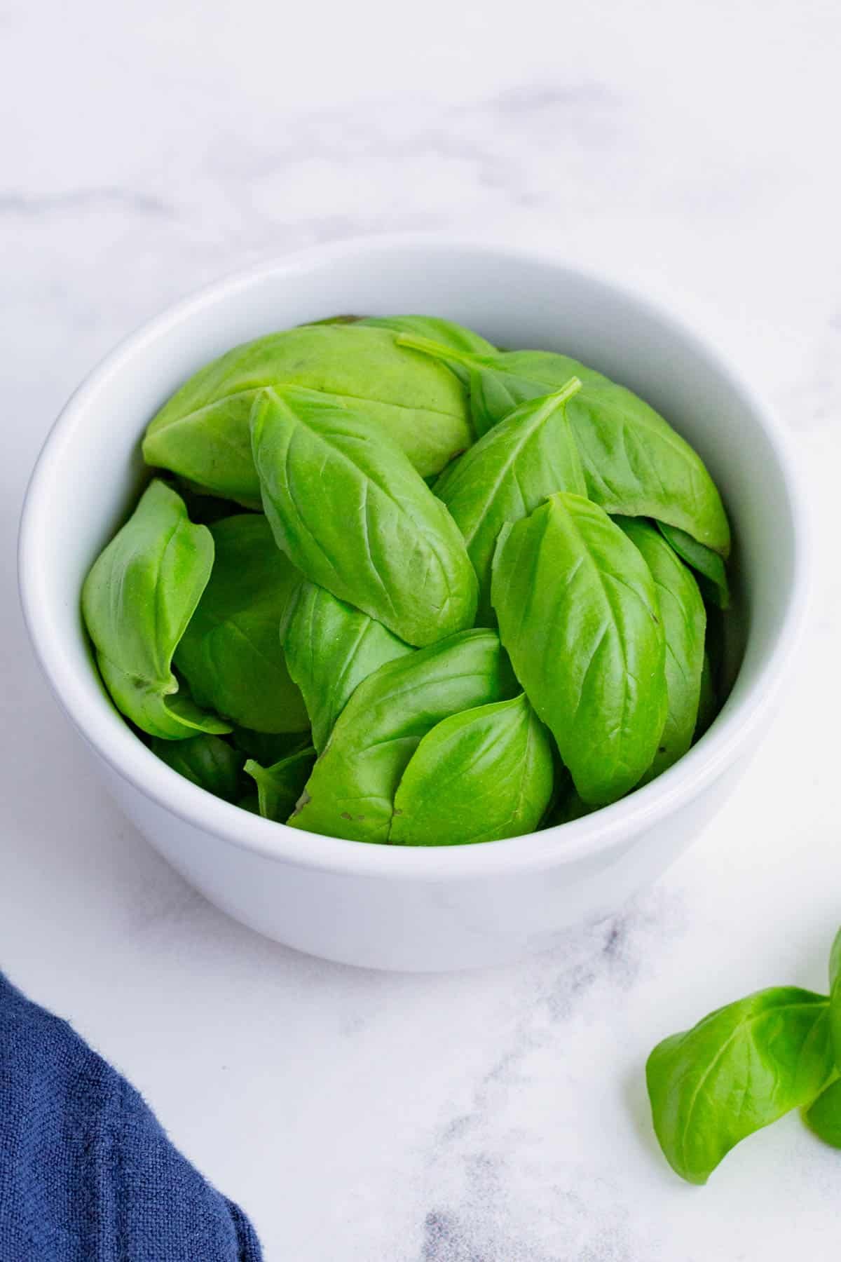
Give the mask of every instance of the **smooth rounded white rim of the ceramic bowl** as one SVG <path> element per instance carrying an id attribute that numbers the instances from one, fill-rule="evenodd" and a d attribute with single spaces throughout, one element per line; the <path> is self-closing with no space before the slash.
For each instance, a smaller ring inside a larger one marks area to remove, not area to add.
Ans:
<path id="1" fill-rule="evenodd" d="M 604 288 L 628 300 L 661 323 L 668 324 L 686 345 L 710 362 L 726 387 L 740 396 L 765 432 L 788 497 L 794 533 L 793 582 L 774 642 L 743 695 L 731 695 L 710 729 L 672 767 L 628 798 L 591 815 L 555 828 L 480 846 L 397 847 L 323 837 L 261 819 L 240 806 L 222 801 L 173 771 L 146 748 L 108 703 L 96 678 L 76 668 L 53 634 L 49 589 L 38 564 L 39 536 L 49 529 L 50 485 L 58 475 L 63 452 L 83 429 L 84 414 L 102 385 L 122 365 L 145 352 L 149 343 L 171 334 L 192 314 L 224 302 L 266 274 L 306 273 L 332 261 L 376 251 L 439 250 L 538 264 L 574 275 L 594 288 Z M 83 379 L 52 425 L 35 462 L 20 519 L 18 581 L 24 621 L 35 655 L 61 707 L 84 741 L 110 770 L 142 796 L 197 829 L 265 858 L 304 868 L 357 873 L 385 880 L 420 881 L 475 880 L 504 870 L 530 872 L 562 867 L 567 862 L 609 852 L 663 820 L 678 806 L 697 798 L 741 753 L 750 736 L 769 713 L 802 634 L 809 592 L 808 512 L 801 488 L 801 473 L 793 444 L 774 410 L 750 387 L 721 352 L 696 328 L 661 300 L 635 285 L 617 283 L 590 266 L 554 251 L 501 244 L 468 241 L 443 233 L 390 233 L 354 236 L 310 246 L 287 255 L 267 257 L 190 293 L 168 305 L 124 337 Z M 562 835 L 559 833 L 562 829 Z"/>

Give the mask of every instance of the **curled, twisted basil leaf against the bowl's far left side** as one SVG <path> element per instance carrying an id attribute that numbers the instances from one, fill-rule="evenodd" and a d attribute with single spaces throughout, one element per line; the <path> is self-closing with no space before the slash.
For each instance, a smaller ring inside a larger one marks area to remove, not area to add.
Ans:
<path id="1" fill-rule="evenodd" d="M 213 567 L 213 536 L 184 501 L 150 482 L 125 526 L 93 563 L 82 613 L 113 703 L 150 736 L 180 741 L 228 732 L 179 692 L 173 654 Z"/>

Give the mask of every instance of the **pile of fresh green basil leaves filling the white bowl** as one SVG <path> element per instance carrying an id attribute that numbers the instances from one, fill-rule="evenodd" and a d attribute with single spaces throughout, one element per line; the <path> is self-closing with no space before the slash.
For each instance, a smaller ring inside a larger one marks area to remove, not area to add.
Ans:
<path id="1" fill-rule="evenodd" d="M 339 318 L 203 367 L 82 607 L 177 771 L 294 828 L 446 846 L 659 775 L 720 697 L 730 530 L 648 404 L 431 317 Z"/>

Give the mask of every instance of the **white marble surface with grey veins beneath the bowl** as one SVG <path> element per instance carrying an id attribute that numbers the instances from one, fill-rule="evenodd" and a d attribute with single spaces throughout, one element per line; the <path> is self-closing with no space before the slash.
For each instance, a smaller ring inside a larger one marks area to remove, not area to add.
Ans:
<path id="1" fill-rule="evenodd" d="M 838 1153 L 792 1117 L 687 1188 L 642 1068 L 721 1002 L 822 988 L 841 923 L 840 40 L 832 0 L 0 5 L 0 964 L 269 1262 L 837 1257 Z M 473 976 L 323 964 L 203 902 L 105 798 L 15 594 L 28 472 L 116 338 L 260 256 L 403 227 L 668 297 L 778 404 L 816 517 L 806 651 L 735 800 L 614 923 Z"/>

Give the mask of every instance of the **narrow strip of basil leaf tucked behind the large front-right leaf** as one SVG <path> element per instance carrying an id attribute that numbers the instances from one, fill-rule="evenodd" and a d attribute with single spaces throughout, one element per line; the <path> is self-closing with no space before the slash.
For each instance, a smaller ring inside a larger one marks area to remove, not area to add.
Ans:
<path id="1" fill-rule="evenodd" d="M 682 758 L 692 743 L 701 700 L 706 610 L 691 570 L 654 526 L 639 517 L 617 517 L 615 521 L 639 549 L 652 573 L 666 634 L 668 713 L 654 761 L 641 781 L 647 784 Z"/>

